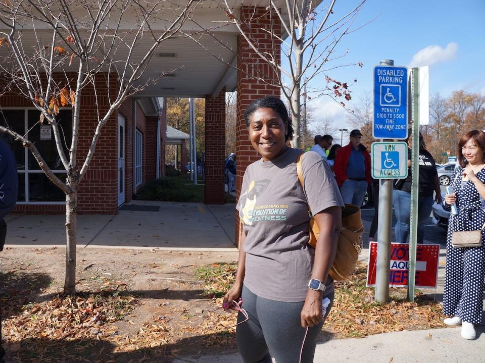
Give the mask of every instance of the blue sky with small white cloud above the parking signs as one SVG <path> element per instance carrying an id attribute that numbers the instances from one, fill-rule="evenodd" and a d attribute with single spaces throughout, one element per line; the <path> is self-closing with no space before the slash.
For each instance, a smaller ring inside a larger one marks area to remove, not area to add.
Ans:
<path id="1" fill-rule="evenodd" d="M 335 15 L 357 5 L 356 0 L 337 2 Z M 429 92 L 449 96 L 454 90 L 480 92 L 485 95 L 485 1 L 464 0 L 368 0 L 354 28 L 361 29 L 344 37 L 338 52 L 348 49 L 345 58 L 334 65 L 362 62 L 357 66 L 328 71 L 339 81 L 351 83 L 352 96 L 358 100 L 372 92 L 372 69 L 382 59 L 394 59 L 396 66 L 429 65 Z M 324 77 L 314 80 L 324 84 Z M 352 101 L 347 102 L 352 108 Z M 342 108 L 328 97 L 313 101 L 316 118 L 332 117 L 346 121 Z M 349 127 L 352 128 L 350 124 Z M 345 136 L 344 136 L 345 138 Z"/>

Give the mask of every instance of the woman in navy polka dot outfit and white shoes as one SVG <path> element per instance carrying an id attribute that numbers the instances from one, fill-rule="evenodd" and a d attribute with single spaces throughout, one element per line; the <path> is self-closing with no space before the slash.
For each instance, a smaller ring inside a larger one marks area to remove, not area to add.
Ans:
<path id="1" fill-rule="evenodd" d="M 456 202 L 457 215 L 452 215 L 446 242 L 446 278 L 443 313 L 450 326 L 460 325 L 461 336 L 475 339 L 473 324 L 481 324 L 485 278 L 485 233 L 481 247 L 454 248 L 453 231 L 479 230 L 485 223 L 485 132 L 473 130 L 458 143 L 457 166 L 452 177 L 453 193 L 445 202 Z"/>

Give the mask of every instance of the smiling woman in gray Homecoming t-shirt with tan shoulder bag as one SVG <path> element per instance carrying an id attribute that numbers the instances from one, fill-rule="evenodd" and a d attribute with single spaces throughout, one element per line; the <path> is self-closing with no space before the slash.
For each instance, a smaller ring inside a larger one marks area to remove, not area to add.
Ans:
<path id="1" fill-rule="evenodd" d="M 302 157 L 307 201 L 296 168 L 302 151 L 285 144 L 293 128 L 279 98 L 254 101 L 245 119 L 262 159 L 244 174 L 236 206 L 242 225 L 239 262 L 223 306 L 229 310 L 242 297 L 249 320 L 237 326 L 236 341 L 245 362 L 271 362 L 271 355 L 278 363 L 298 362 L 303 342 L 301 362 L 311 362 L 326 316 L 322 299 L 333 301 L 328 272 L 344 203 L 316 152 Z M 308 246 L 308 207 L 321 231 L 316 249 Z M 239 314 L 238 322 L 244 320 Z"/>

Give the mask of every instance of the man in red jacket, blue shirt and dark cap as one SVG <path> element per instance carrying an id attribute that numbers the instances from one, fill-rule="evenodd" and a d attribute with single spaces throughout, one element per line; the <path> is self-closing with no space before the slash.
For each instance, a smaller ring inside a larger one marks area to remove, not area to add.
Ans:
<path id="1" fill-rule="evenodd" d="M 372 182 L 370 154 L 361 140 L 360 131 L 352 130 L 349 144 L 338 149 L 333 167 L 344 203 L 357 206 L 362 205 L 367 184 Z"/>

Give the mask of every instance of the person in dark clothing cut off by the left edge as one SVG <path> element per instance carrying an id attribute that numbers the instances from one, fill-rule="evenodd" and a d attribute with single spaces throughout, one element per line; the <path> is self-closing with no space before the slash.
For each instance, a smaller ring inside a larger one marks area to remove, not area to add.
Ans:
<path id="1" fill-rule="evenodd" d="M 19 179 L 17 162 L 9 146 L 0 139 L 0 251 L 4 249 L 7 224 L 4 217 L 12 211 L 17 201 Z M 0 306 L 1 312 L 1 306 Z M 5 350 L 2 347 L 2 315 L 0 314 L 0 362 L 3 362 Z"/>

